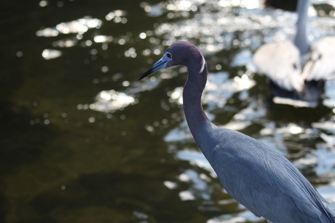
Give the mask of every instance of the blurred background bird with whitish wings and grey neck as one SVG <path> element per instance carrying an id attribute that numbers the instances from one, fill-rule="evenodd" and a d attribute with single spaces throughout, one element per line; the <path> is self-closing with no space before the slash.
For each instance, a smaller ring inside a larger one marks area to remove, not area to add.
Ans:
<path id="1" fill-rule="evenodd" d="M 335 72 L 335 36 L 324 37 L 313 45 L 308 43 L 309 6 L 309 0 L 297 3 L 298 21 L 293 42 L 267 43 L 255 52 L 258 72 L 271 79 L 274 102 L 316 107 L 325 79 Z"/>

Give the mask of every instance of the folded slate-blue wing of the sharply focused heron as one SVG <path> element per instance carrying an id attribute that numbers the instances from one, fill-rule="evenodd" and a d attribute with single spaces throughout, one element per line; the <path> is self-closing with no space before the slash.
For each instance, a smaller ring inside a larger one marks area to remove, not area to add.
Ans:
<path id="1" fill-rule="evenodd" d="M 223 134 L 229 139 L 215 150 L 213 169 L 227 192 L 256 216 L 279 222 L 332 216 L 327 201 L 283 155 L 240 132 L 226 129 Z"/>

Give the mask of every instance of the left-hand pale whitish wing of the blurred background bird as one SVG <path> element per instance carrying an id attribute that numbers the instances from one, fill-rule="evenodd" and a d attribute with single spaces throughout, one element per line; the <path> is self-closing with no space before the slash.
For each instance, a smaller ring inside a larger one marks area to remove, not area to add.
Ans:
<path id="1" fill-rule="evenodd" d="M 258 72 L 265 74 L 279 87 L 288 91 L 302 91 L 300 52 L 291 41 L 266 43 L 258 48 L 253 58 Z"/>

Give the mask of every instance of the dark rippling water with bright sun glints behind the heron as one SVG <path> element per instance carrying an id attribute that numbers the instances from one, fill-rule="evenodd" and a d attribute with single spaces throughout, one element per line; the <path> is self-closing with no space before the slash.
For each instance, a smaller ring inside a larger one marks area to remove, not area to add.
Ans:
<path id="1" fill-rule="evenodd" d="M 294 13 L 257 0 L 1 4 L 1 222 L 264 222 L 191 137 L 187 70 L 137 82 L 177 40 L 205 55 L 208 117 L 277 148 L 335 212 L 335 79 L 316 109 L 277 105 L 252 64 L 262 43 L 292 37 Z M 310 9 L 310 41 L 335 34 L 331 5 Z"/>

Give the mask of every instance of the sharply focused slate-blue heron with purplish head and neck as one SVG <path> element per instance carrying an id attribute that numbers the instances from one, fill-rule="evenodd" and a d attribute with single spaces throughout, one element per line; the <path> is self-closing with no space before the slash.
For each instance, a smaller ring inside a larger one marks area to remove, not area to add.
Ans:
<path id="1" fill-rule="evenodd" d="M 215 126 L 201 105 L 207 65 L 200 50 L 180 41 L 139 80 L 162 69 L 184 65 L 185 117 L 191 133 L 228 194 L 257 217 L 273 223 L 335 223 L 328 203 L 275 149 L 241 132 Z"/>

